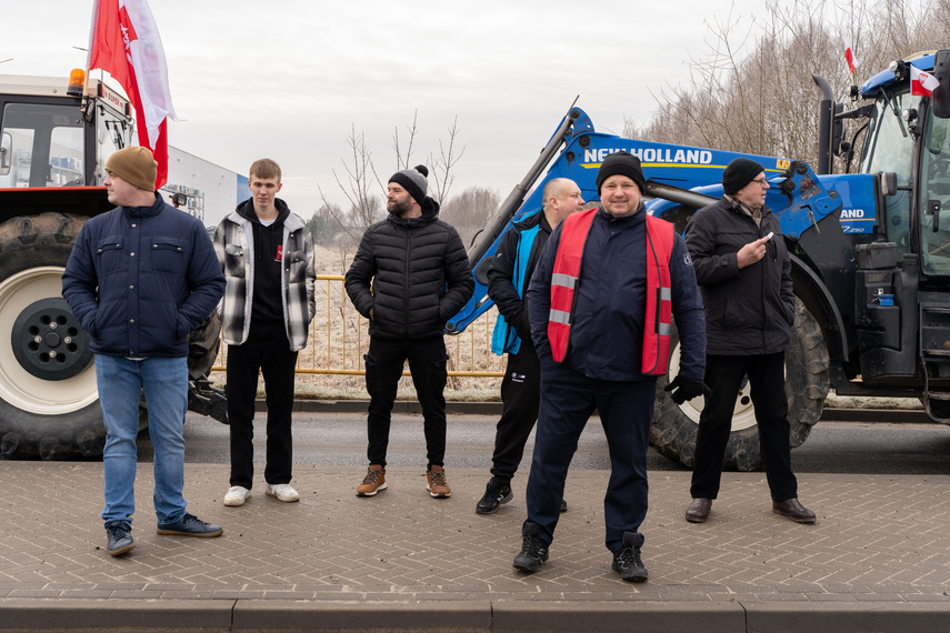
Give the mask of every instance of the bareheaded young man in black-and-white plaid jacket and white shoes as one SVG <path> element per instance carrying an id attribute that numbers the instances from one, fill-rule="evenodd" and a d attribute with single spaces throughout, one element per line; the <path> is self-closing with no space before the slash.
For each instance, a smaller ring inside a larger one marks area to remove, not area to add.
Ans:
<path id="1" fill-rule="evenodd" d="M 228 344 L 231 488 L 224 505 L 243 505 L 253 485 L 253 419 L 258 373 L 267 390 L 264 492 L 299 501 L 292 478 L 293 376 L 297 353 L 313 319 L 313 240 L 303 220 L 277 198 L 280 167 L 262 159 L 250 169 L 251 199 L 214 231 L 227 285 L 218 305 Z"/>

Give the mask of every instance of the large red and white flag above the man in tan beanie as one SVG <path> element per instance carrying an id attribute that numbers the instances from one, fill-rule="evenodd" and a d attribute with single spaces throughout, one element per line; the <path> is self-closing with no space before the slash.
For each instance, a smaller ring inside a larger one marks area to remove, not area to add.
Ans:
<path id="1" fill-rule="evenodd" d="M 136 107 L 139 144 L 158 162 L 156 188 L 168 179 L 166 119 L 177 121 L 168 88 L 168 66 L 158 27 L 146 0 L 94 0 L 87 71 L 101 68 Z"/>

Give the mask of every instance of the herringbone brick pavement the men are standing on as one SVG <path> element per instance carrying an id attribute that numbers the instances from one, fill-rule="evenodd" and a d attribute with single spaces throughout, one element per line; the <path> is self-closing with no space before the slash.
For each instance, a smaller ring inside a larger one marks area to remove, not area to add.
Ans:
<path id="1" fill-rule="evenodd" d="M 697 525 L 682 519 L 689 473 L 652 472 L 650 580 L 629 584 L 603 546 L 606 471 L 569 474 L 551 559 L 529 575 L 511 566 L 527 473 L 511 503 L 478 515 L 487 471 L 449 468 L 453 495 L 434 500 L 422 468 L 390 468 L 389 489 L 361 499 L 362 469 L 298 465 L 299 503 L 266 496 L 261 480 L 224 508 L 228 468 L 188 464 L 189 511 L 224 526 L 189 539 L 154 533 L 140 465 L 137 547 L 113 559 L 101 463 L 0 461 L 0 629 L 131 626 L 130 610 L 146 626 L 149 610 L 173 607 L 209 630 L 304 629 L 314 613 L 340 630 L 624 630 L 630 613 L 643 630 L 888 630 L 888 617 L 950 630 L 950 476 L 799 475 L 819 518 L 800 525 L 771 512 L 762 473 L 724 473 Z"/>

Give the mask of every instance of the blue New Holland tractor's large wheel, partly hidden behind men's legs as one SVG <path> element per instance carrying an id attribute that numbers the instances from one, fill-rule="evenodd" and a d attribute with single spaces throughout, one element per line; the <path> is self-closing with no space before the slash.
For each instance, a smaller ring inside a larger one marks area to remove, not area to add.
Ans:
<path id="1" fill-rule="evenodd" d="M 673 328 L 670 366 L 666 376 L 657 382 L 657 402 L 650 428 L 650 443 L 660 454 L 692 468 L 696 462 L 696 434 L 702 396 L 682 404 L 670 400 L 663 388 L 679 373 L 679 333 Z M 804 304 L 796 299 L 796 320 L 791 342 L 786 351 L 786 395 L 789 401 L 790 445 L 804 442 L 811 428 L 821 416 L 829 388 L 829 355 L 821 329 Z M 759 430 L 756 412 L 749 396 L 748 379 L 736 399 L 732 413 L 732 433 L 726 448 L 723 468 L 752 471 L 761 468 Z"/>

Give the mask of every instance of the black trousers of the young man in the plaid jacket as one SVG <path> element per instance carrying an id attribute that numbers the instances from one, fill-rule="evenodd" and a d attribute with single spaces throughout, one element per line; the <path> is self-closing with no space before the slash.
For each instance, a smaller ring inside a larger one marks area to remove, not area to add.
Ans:
<path id="1" fill-rule="evenodd" d="M 254 398 L 258 372 L 267 393 L 267 465 L 270 484 L 290 483 L 293 442 L 290 416 L 297 352 L 290 351 L 283 323 L 251 322 L 248 340 L 228 345 L 224 394 L 231 426 L 231 485 L 251 489 L 254 478 Z"/>

